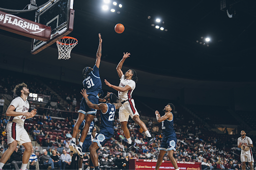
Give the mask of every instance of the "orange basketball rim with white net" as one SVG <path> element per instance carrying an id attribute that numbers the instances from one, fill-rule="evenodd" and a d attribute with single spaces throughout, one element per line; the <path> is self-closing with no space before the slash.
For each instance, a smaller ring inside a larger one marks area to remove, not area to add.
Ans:
<path id="1" fill-rule="evenodd" d="M 56 41 L 58 47 L 58 59 L 69 59 L 70 52 L 73 47 L 78 43 L 76 38 L 64 36 Z"/>

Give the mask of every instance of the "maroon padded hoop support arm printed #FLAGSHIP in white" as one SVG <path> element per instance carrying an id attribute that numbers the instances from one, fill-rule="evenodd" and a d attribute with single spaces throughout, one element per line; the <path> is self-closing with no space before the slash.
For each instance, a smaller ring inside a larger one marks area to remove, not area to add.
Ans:
<path id="1" fill-rule="evenodd" d="M 49 26 L 0 11 L 0 29 L 29 38 L 47 41 L 50 39 Z"/>

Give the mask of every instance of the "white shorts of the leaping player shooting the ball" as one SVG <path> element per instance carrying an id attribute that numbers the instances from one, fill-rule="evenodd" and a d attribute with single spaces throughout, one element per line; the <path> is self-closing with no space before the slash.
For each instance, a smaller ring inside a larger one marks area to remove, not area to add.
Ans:
<path id="1" fill-rule="evenodd" d="M 139 116 L 139 114 L 135 108 L 133 99 L 128 100 L 127 102 L 124 102 L 122 104 L 122 106 L 119 108 L 119 121 L 120 122 L 128 122 L 129 116 L 132 119 L 134 115 Z"/>

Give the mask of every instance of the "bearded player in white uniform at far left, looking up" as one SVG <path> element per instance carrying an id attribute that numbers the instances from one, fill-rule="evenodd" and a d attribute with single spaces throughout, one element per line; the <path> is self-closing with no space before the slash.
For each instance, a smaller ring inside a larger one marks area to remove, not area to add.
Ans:
<path id="1" fill-rule="evenodd" d="M 28 112 L 29 103 L 26 100 L 26 97 L 29 94 L 29 90 L 25 83 L 20 83 L 16 85 L 13 90 L 17 96 L 13 99 L 6 111 L 6 115 L 10 116 L 9 122 L 6 125 L 7 131 L 7 144 L 8 149 L 3 153 L 0 160 L 0 170 L 10 158 L 10 155 L 13 153 L 15 148 L 18 145 L 23 145 L 25 151 L 22 157 L 22 166 L 21 170 L 26 169 L 26 165 L 29 161 L 30 153 L 32 151 L 32 143 L 29 139 L 27 132 L 24 129 L 25 119 L 34 117 L 36 114 L 36 109 L 33 109 L 31 112 Z"/>

